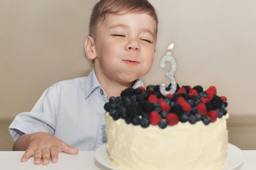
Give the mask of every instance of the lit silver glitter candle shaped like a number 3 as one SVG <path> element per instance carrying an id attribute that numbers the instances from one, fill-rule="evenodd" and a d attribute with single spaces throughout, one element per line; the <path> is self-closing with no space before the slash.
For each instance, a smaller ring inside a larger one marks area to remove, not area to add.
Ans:
<path id="1" fill-rule="evenodd" d="M 168 52 L 160 60 L 160 67 L 161 68 L 165 68 L 165 66 L 166 66 L 165 63 L 167 61 L 169 61 L 171 63 L 171 68 L 170 68 L 169 72 L 165 73 L 165 77 L 167 77 L 171 80 L 171 83 L 172 83 L 171 89 L 169 91 L 167 91 L 166 90 L 166 85 L 164 83 L 160 84 L 160 92 L 164 96 L 166 96 L 167 94 L 174 94 L 176 92 L 176 88 L 177 88 L 177 83 L 176 83 L 176 80 L 174 78 L 174 74 L 175 74 L 175 71 L 177 69 L 177 63 L 176 63 L 174 57 L 172 56 L 171 51 L 172 51 L 173 48 L 174 48 L 174 43 L 172 43 L 168 47 Z"/>

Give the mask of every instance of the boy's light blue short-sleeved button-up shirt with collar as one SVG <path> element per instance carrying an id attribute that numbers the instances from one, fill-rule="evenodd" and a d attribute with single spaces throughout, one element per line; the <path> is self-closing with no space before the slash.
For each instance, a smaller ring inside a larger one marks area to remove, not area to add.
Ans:
<path id="1" fill-rule="evenodd" d="M 138 79 L 134 88 L 143 86 Z M 61 81 L 47 88 L 31 112 L 16 116 L 9 132 L 47 132 L 79 150 L 95 150 L 107 141 L 104 104 L 108 102 L 94 69 L 87 77 Z"/>

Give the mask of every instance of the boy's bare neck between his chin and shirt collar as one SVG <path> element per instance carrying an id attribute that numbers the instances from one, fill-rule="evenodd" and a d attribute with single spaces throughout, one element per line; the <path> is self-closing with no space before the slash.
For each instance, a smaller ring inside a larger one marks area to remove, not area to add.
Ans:
<path id="1" fill-rule="evenodd" d="M 110 98 L 111 96 L 114 96 L 114 97 L 120 96 L 120 93 L 122 90 L 128 87 L 132 87 L 135 83 L 135 81 L 134 82 L 115 81 L 107 77 L 104 73 L 101 72 L 102 71 L 101 69 L 97 69 L 96 67 L 94 67 L 94 71 L 99 84 L 102 86 L 102 88 L 106 92 L 108 98 Z"/>

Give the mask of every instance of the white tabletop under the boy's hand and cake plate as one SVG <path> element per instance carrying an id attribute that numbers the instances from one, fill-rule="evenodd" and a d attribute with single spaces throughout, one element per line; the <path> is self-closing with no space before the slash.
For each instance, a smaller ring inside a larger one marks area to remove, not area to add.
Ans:
<path id="1" fill-rule="evenodd" d="M 256 150 L 242 151 L 243 164 L 236 170 L 256 170 Z M 0 170 L 109 170 L 101 166 L 94 158 L 95 151 L 79 151 L 77 155 L 59 153 L 58 163 L 48 165 L 34 165 L 34 158 L 27 162 L 20 162 L 22 152 L 1 151 Z"/>

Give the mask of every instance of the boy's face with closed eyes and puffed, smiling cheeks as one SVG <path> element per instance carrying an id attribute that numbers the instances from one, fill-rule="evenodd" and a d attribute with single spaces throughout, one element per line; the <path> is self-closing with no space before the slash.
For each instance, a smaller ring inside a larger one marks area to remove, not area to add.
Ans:
<path id="1" fill-rule="evenodd" d="M 156 21 L 147 14 L 109 15 L 98 24 L 94 67 L 109 79 L 132 82 L 153 63 Z"/>

